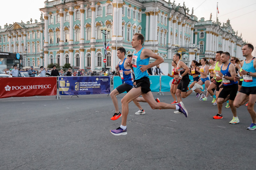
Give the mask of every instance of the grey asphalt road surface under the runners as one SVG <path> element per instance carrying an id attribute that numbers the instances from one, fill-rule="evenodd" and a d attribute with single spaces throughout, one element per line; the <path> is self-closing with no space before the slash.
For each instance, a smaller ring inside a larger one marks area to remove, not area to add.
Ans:
<path id="1" fill-rule="evenodd" d="M 168 92 L 157 96 L 172 102 Z M 121 108 L 121 99 L 118 96 Z M 110 96 L 36 96 L 0 99 L 1 170 L 151 170 L 253 169 L 256 130 L 246 128 L 251 117 L 245 106 L 237 109 L 240 123 L 233 125 L 230 108 L 214 120 L 217 106 L 188 96 L 189 112 L 152 110 L 141 103 L 145 115 L 130 103 L 127 135 L 114 136 L 121 119 L 110 120 Z"/>

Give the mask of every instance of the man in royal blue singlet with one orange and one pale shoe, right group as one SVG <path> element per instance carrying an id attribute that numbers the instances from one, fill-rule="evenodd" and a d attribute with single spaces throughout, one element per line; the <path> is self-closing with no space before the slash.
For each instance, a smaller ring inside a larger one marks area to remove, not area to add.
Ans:
<path id="1" fill-rule="evenodd" d="M 233 113 L 233 119 L 229 122 L 231 124 L 239 123 L 239 119 L 236 116 L 236 107 L 234 107 L 234 100 L 236 98 L 236 93 L 238 90 L 237 81 L 234 81 L 236 77 L 236 67 L 234 64 L 229 63 L 230 54 L 224 52 L 220 56 L 220 61 L 222 66 L 220 68 L 219 76 L 222 77 L 223 89 L 220 91 L 219 97 L 217 99 L 218 114 L 213 116 L 213 119 L 222 119 L 222 104 L 229 100 L 229 106 Z"/>

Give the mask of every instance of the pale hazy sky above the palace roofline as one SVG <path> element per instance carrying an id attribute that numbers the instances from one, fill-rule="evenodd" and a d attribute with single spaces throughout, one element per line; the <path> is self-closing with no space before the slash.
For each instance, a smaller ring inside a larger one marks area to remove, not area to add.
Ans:
<path id="1" fill-rule="evenodd" d="M 44 7 L 44 1 L 45 0 L 1 0 L 0 26 L 4 28 L 6 23 L 9 25 L 13 24 L 13 22 L 21 22 L 21 20 L 26 23 L 30 18 L 33 19 L 32 23 L 35 23 L 35 19 L 40 22 L 41 12 L 39 8 Z M 168 2 L 168 0 L 166 1 Z M 173 0 L 171 0 L 171 2 L 173 2 Z M 183 2 L 185 2 L 186 8 L 189 9 L 189 14 L 191 14 L 192 8 L 194 8 L 194 15 L 196 15 L 197 18 L 200 19 L 204 17 L 205 20 L 209 20 L 210 14 L 212 13 L 212 20 L 214 21 L 216 21 L 217 2 L 219 2 L 219 21 L 226 23 L 229 19 L 234 31 L 238 31 L 237 35 L 240 36 L 242 33 L 243 40 L 252 43 L 256 48 L 255 0 L 175 0 L 176 5 L 180 3 L 180 6 L 183 6 Z M 256 50 L 254 51 L 256 52 Z"/>

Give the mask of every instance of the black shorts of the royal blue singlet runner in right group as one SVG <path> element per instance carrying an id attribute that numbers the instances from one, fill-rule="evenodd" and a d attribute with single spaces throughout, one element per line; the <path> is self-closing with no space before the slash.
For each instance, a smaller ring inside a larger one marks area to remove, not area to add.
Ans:
<path id="1" fill-rule="evenodd" d="M 233 85 L 223 85 L 223 89 L 219 94 L 219 98 L 225 99 L 229 95 L 229 100 L 235 100 L 237 90 L 238 90 L 237 83 Z"/>

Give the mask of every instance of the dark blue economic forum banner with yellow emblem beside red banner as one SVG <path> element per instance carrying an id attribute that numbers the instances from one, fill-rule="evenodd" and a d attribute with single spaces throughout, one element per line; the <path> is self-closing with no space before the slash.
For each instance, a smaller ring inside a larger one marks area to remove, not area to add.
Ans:
<path id="1" fill-rule="evenodd" d="M 109 76 L 59 77 L 60 95 L 108 94 Z"/>

